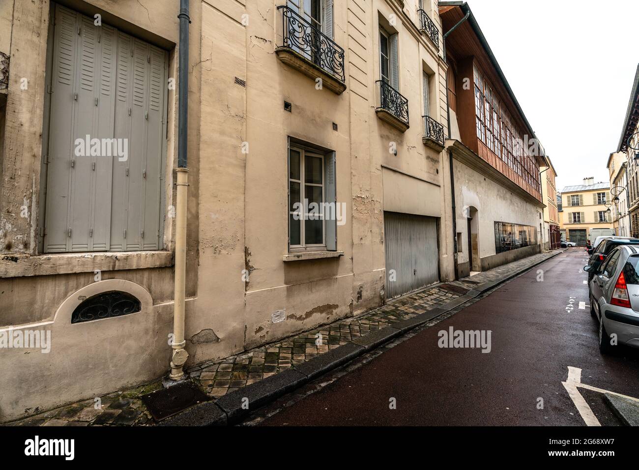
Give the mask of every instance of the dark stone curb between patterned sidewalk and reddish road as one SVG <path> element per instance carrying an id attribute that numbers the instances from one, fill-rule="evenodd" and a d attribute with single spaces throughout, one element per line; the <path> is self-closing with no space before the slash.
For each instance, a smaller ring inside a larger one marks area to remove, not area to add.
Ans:
<path id="1" fill-rule="evenodd" d="M 566 251 L 566 250 L 564 250 Z M 339 348 L 332 349 L 328 352 L 313 357 L 310 361 L 293 366 L 288 370 L 276 373 L 259 382 L 247 385 L 241 389 L 221 396 L 215 402 L 200 403 L 194 407 L 190 407 L 185 411 L 172 416 L 171 418 L 160 421 L 161 426 L 225 426 L 233 425 L 242 421 L 242 418 L 248 416 L 250 412 L 255 411 L 259 407 L 268 402 L 272 402 L 276 398 L 284 395 L 284 393 L 304 385 L 309 380 L 323 375 L 344 363 L 362 356 L 362 354 L 375 349 L 393 338 L 401 336 L 420 325 L 429 322 L 433 318 L 439 317 L 452 309 L 458 308 L 460 305 L 475 299 L 484 292 L 495 288 L 506 281 L 519 276 L 521 273 L 534 268 L 535 266 L 545 263 L 555 256 L 561 255 L 564 251 L 548 256 L 543 260 L 508 274 L 504 278 L 490 281 L 477 286 L 477 290 L 470 290 L 464 295 L 460 295 L 453 301 L 448 302 L 444 306 L 433 308 L 427 312 L 420 313 L 416 317 L 399 320 L 392 326 L 387 326 L 372 333 L 360 336 L 359 338 L 341 345 Z M 246 408 L 246 400 L 248 399 L 248 409 Z M 244 407 L 242 407 L 244 405 Z"/>

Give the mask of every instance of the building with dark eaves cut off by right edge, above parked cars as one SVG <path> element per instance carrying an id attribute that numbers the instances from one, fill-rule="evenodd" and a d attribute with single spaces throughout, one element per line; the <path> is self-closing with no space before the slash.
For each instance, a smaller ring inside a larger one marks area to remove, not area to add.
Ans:
<path id="1" fill-rule="evenodd" d="M 639 237 L 639 65 L 630 92 L 617 152 L 626 157 L 629 234 Z"/>

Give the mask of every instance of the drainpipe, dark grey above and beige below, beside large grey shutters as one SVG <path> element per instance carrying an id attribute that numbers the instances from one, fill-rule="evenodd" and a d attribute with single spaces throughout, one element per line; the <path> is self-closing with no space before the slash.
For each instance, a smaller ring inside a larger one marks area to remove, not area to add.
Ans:
<path id="1" fill-rule="evenodd" d="M 189 0 L 180 0 L 180 63 L 178 65 L 178 168 L 175 214 L 175 286 L 173 307 L 173 341 L 169 378 L 180 380 L 189 353 L 184 349 L 184 300 L 187 270 L 187 136 L 189 116 Z"/>

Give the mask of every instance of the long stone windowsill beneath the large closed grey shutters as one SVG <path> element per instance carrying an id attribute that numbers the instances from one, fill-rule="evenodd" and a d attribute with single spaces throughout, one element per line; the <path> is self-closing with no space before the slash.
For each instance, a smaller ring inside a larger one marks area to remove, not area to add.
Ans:
<path id="1" fill-rule="evenodd" d="M 0 254 L 0 278 L 50 276 L 81 272 L 149 269 L 173 266 L 173 251 L 114 251 L 108 253 Z"/>

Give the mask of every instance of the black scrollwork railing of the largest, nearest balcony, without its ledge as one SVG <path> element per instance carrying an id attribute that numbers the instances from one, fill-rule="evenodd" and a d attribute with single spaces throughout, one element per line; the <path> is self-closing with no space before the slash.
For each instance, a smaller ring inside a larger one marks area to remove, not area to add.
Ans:
<path id="1" fill-rule="evenodd" d="M 288 6 L 282 12 L 282 46 L 344 83 L 344 49 Z"/>

